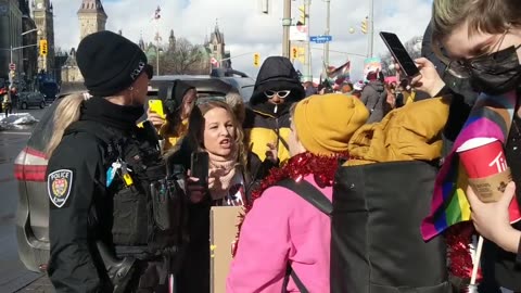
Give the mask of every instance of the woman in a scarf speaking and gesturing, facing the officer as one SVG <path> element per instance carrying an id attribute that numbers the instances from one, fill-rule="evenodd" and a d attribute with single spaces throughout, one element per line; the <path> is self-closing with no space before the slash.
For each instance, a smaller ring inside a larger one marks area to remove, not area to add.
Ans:
<path id="1" fill-rule="evenodd" d="M 274 164 L 269 160 L 263 163 L 247 151 L 233 110 L 220 101 L 194 107 L 183 144 L 188 145 L 168 157 L 170 165 L 189 169 L 190 246 L 181 269 L 180 292 L 209 292 L 209 209 L 246 204 L 250 191 Z"/>

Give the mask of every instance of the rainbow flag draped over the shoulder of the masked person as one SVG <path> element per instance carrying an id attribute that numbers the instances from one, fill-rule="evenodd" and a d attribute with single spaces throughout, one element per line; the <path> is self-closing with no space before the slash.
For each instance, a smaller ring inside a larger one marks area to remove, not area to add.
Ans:
<path id="1" fill-rule="evenodd" d="M 517 102 L 516 91 L 501 95 L 481 94 L 473 106 L 461 132 L 454 143 L 437 174 L 431 214 L 421 224 L 423 240 L 430 240 L 448 227 L 470 220 L 470 204 L 467 201 L 467 173 L 459 162 L 456 150 L 472 138 L 494 138 L 506 142 Z M 510 204 L 510 220 L 519 220 L 517 201 Z"/>

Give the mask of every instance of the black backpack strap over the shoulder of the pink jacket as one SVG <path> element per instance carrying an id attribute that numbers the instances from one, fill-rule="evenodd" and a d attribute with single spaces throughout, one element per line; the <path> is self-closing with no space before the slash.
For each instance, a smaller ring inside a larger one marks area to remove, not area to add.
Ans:
<path id="1" fill-rule="evenodd" d="M 277 182 L 276 186 L 283 187 L 295 192 L 301 198 L 306 200 L 306 202 L 310 203 L 320 212 L 331 217 L 331 214 L 333 213 L 333 204 L 331 201 L 329 201 L 329 199 L 326 198 L 322 192 L 320 192 L 316 187 L 306 180 L 295 182 L 293 179 L 284 179 Z"/>

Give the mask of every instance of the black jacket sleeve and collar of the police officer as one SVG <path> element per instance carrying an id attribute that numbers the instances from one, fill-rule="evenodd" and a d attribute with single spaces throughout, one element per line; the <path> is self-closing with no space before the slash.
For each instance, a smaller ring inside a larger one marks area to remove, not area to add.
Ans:
<path id="1" fill-rule="evenodd" d="M 80 123 L 140 137 L 135 122 L 142 107 L 119 106 L 102 98 L 82 105 Z M 106 189 L 104 145 L 75 123 L 49 160 L 47 169 L 49 278 L 56 292 L 111 292 L 112 283 L 96 242 L 111 243 L 112 193 Z"/>

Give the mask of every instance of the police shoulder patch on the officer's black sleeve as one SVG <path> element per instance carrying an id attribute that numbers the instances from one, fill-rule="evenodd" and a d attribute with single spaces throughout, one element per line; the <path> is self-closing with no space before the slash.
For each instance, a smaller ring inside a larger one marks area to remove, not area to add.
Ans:
<path id="1" fill-rule="evenodd" d="M 69 169 L 59 169 L 47 177 L 49 199 L 56 207 L 62 207 L 67 202 L 72 187 L 73 171 Z"/>

